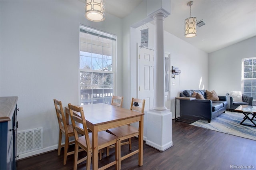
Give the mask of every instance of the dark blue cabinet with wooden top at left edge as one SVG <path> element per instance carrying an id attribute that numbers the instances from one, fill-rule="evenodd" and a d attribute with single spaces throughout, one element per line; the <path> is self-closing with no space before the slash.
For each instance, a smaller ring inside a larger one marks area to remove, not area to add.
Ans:
<path id="1" fill-rule="evenodd" d="M 0 97 L 0 170 L 16 170 L 18 97 Z"/>

